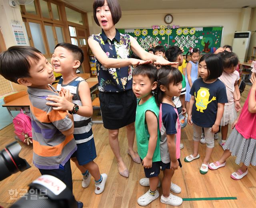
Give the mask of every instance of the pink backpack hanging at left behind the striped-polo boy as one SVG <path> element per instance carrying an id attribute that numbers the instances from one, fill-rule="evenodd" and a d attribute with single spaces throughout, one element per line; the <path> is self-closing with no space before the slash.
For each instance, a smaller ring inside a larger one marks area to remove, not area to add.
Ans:
<path id="1" fill-rule="evenodd" d="M 20 113 L 12 120 L 14 126 L 14 133 L 20 139 L 20 141 L 29 145 L 32 144 L 32 125 L 31 118 L 24 114 L 20 109 Z"/>

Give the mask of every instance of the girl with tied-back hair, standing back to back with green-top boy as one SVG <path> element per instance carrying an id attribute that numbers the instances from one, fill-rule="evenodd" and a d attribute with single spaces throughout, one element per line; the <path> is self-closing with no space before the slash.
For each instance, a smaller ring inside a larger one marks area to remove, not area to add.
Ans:
<path id="1" fill-rule="evenodd" d="M 160 201 L 172 206 L 180 206 L 182 198 L 170 193 L 170 188 L 176 192 L 176 188 L 171 186 L 174 171 L 181 167 L 180 163 L 180 120 L 173 96 L 180 96 L 182 91 L 182 74 L 174 67 L 162 67 L 158 70 L 158 87 L 156 88 L 156 103 L 159 110 L 160 140 L 160 166 L 164 172 L 162 180 L 163 194 Z"/>

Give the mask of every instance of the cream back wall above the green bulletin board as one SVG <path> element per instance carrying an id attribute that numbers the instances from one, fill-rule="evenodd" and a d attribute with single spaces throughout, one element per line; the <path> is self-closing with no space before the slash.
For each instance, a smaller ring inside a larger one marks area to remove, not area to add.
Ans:
<path id="1" fill-rule="evenodd" d="M 253 17 L 255 18 L 255 8 Z M 152 25 L 166 25 L 164 16 L 172 14 L 171 25 L 179 26 L 223 26 L 223 37 L 221 45 L 232 45 L 234 32 L 244 29 L 243 22 L 248 20 L 246 9 L 193 9 L 193 10 L 138 10 L 123 11 L 122 18 L 116 24 L 118 28 L 151 27 Z M 88 24 L 90 34 L 100 33 L 101 29 L 93 19 L 93 13 L 88 12 Z M 252 18 L 253 18 L 252 17 Z M 254 24 L 254 23 L 253 23 Z M 253 24 L 250 24 L 252 28 Z M 255 23 L 256 24 L 256 23 Z M 245 29 L 248 30 L 248 29 Z M 255 28 L 254 28 L 255 30 Z M 256 36 L 256 35 L 255 35 Z"/>

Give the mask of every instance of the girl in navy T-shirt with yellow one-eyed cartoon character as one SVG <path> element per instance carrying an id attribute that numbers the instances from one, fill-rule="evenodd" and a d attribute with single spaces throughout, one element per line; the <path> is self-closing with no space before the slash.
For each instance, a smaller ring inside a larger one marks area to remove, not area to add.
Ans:
<path id="1" fill-rule="evenodd" d="M 193 154 L 185 157 L 185 162 L 191 162 L 200 157 L 199 141 L 204 128 L 206 153 L 200 167 L 200 173 L 208 172 L 208 161 L 214 148 L 214 133 L 218 132 L 220 120 L 224 112 L 224 104 L 228 102 L 226 87 L 218 79 L 223 71 L 221 58 L 216 54 L 206 54 L 199 61 L 199 75 L 194 81 L 190 94 L 188 123 L 193 124 Z M 196 101 L 196 102 L 195 102 Z M 193 123 L 192 123 L 193 120 Z"/>

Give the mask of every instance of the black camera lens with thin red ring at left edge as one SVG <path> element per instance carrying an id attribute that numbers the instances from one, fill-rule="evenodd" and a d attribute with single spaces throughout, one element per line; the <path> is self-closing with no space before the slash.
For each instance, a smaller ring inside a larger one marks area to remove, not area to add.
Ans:
<path id="1" fill-rule="evenodd" d="M 21 146 L 14 141 L 0 151 L 0 181 L 31 167 L 26 160 L 19 157 L 20 150 Z"/>

